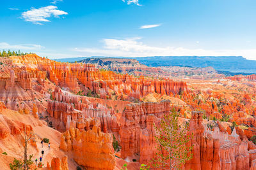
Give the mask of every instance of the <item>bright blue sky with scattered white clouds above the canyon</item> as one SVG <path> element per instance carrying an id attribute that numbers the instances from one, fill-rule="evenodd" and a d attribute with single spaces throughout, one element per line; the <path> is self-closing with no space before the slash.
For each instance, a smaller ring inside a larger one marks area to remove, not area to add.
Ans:
<path id="1" fill-rule="evenodd" d="M 255 0 L 1 0 L 0 50 L 83 56 L 243 55 Z"/>

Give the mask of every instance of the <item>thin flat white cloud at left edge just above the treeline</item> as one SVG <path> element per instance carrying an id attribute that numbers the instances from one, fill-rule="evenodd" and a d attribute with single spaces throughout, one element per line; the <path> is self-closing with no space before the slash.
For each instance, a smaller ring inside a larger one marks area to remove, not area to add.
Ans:
<path id="1" fill-rule="evenodd" d="M 10 45 L 8 43 L 0 43 L 0 50 L 41 50 L 44 46 L 34 44 Z"/>

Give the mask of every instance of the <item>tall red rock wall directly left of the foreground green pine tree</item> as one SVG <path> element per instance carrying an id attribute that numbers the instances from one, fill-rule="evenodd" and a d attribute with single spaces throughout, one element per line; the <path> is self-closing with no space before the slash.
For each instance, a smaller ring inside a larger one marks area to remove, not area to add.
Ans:
<path id="1" fill-rule="evenodd" d="M 123 159 L 140 152 L 142 154 L 141 160 L 152 158 L 147 157 L 147 152 L 145 152 L 142 144 L 150 142 L 147 143 L 146 148 L 155 145 L 153 138 L 155 132 L 152 128 L 153 120 L 157 121 L 159 118 L 163 118 L 166 113 L 170 113 L 170 101 L 129 104 L 125 107 L 120 119 L 120 145 Z M 146 134 L 149 134 L 149 136 Z M 143 138 L 143 136 L 148 138 Z M 153 153 L 154 151 L 150 155 Z"/>

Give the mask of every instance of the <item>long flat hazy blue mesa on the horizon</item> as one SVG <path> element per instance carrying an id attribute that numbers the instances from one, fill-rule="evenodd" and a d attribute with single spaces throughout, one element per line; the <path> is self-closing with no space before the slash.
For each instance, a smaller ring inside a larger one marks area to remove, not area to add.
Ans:
<path id="1" fill-rule="evenodd" d="M 79 62 L 92 58 L 136 59 L 140 64 L 149 67 L 180 66 L 180 67 L 213 67 L 221 74 L 253 74 L 256 73 L 256 60 L 247 60 L 241 56 L 154 56 L 154 57 L 78 57 L 56 59 L 59 62 Z"/>

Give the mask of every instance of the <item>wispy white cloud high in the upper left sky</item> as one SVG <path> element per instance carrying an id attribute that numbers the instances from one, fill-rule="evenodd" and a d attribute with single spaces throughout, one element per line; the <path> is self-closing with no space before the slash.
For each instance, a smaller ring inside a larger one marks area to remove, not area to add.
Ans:
<path id="1" fill-rule="evenodd" d="M 21 15 L 24 20 L 28 22 L 33 22 L 33 24 L 42 25 L 41 22 L 50 22 L 47 18 L 50 17 L 59 17 L 60 15 L 67 15 L 68 13 L 65 11 L 57 10 L 57 6 L 45 6 L 41 8 L 32 8 L 29 11 L 23 12 Z"/>

